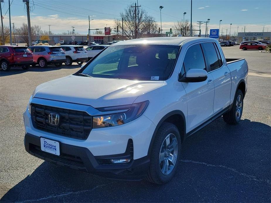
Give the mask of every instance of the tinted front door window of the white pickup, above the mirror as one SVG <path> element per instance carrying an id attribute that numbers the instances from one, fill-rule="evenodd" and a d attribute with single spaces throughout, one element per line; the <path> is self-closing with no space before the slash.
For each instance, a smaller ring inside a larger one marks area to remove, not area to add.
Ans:
<path id="1" fill-rule="evenodd" d="M 185 54 L 183 60 L 184 70 L 187 72 L 190 69 L 204 69 L 206 70 L 205 61 L 200 44 L 190 47 Z"/>

